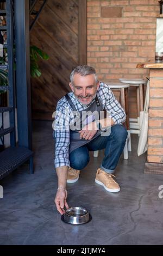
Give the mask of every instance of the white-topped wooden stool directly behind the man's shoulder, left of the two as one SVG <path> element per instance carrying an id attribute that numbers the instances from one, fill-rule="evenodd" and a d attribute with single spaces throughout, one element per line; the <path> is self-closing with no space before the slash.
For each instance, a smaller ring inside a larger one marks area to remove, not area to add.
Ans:
<path id="1" fill-rule="evenodd" d="M 123 107 L 124 111 L 126 112 L 126 121 L 124 125 L 128 131 L 128 137 L 126 139 L 126 145 L 123 150 L 124 159 L 128 159 L 128 151 L 131 151 L 131 136 L 130 136 L 130 127 L 129 127 L 129 108 L 128 108 L 128 88 L 129 84 L 125 83 L 106 83 L 110 87 L 112 91 L 120 92 L 120 101 L 121 106 Z M 98 150 L 94 151 L 93 156 L 98 156 Z"/>

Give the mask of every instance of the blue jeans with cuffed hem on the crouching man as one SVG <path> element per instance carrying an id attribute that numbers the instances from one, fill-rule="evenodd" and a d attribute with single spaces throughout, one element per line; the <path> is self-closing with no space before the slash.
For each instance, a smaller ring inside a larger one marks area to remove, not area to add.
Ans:
<path id="1" fill-rule="evenodd" d="M 90 160 L 89 151 L 105 149 L 101 169 L 110 174 L 114 173 L 124 149 L 127 135 L 127 130 L 123 125 L 112 126 L 109 136 L 98 136 L 86 145 L 74 149 L 69 155 L 70 166 L 81 170 Z"/>

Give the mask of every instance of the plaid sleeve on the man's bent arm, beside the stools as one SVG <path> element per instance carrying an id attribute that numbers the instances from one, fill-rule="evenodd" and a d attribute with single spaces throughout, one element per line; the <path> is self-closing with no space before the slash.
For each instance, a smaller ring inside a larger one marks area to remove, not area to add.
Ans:
<path id="1" fill-rule="evenodd" d="M 121 104 L 116 100 L 109 86 L 106 89 L 105 109 L 110 113 L 110 117 L 115 124 L 122 124 L 126 120 L 126 113 Z"/>

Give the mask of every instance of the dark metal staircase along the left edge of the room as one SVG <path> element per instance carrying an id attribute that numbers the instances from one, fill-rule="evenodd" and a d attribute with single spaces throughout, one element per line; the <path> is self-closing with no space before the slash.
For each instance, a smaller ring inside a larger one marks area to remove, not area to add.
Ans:
<path id="1" fill-rule="evenodd" d="M 8 90 L 9 103 L 8 107 L 0 107 L 0 117 L 2 118 L 2 127 L 0 127 L 0 139 L 4 144 L 4 136 L 10 134 L 10 148 L 5 149 L 0 153 L 0 179 L 4 178 L 7 174 L 15 170 L 21 164 L 30 161 L 30 173 L 33 173 L 33 152 L 28 147 L 21 147 L 16 145 L 16 129 L 15 129 L 15 76 L 14 76 L 14 37 L 13 37 L 13 3 L 12 0 L 4 1 L 5 9 L 0 10 L 0 15 L 6 17 L 6 26 L 0 26 L 1 31 L 7 31 L 7 44 L 3 47 L 7 48 L 8 64 L 0 65 L 1 70 L 8 71 L 8 85 L 1 86 L 0 90 Z M 3 127 L 4 112 L 9 112 L 10 126 Z M 27 127 L 28 129 L 28 127 Z"/>

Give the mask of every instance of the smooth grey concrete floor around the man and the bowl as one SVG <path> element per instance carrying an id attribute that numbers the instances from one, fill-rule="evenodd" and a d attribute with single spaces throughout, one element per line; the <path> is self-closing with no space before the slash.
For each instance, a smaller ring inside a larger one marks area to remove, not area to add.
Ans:
<path id="1" fill-rule="evenodd" d="M 1 245 L 162 245 L 163 199 L 158 187 L 162 175 L 144 174 L 146 155 L 137 157 L 137 136 L 132 135 L 129 160 L 117 166 L 119 193 L 110 193 L 95 183 L 98 158 L 90 163 L 75 184 L 68 184 L 69 206 L 84 206 L 92 221 L 70 225 L 61 221 L 53 203 L 57 175 L 53 166 L 52 123 L 34 122 L 35 173 L 24 164 L 0 181 Z"/>

